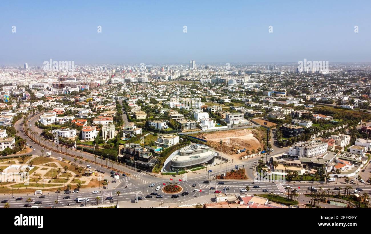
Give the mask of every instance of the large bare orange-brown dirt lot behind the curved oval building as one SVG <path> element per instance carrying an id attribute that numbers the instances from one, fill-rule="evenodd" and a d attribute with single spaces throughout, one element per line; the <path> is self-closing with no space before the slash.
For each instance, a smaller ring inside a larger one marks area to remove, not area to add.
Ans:
<path id="1" fill-rule="evenodd" d="M 237 154 L 237 149 L 246 148 L 248 150 L 263 148 L 261 142 L 265 136 L 265 131 L 256 129 L 237 129 L 230 131 L 218 131 L 214 133 L 200 133 L 197 137 L 207 140 L 207 144 L 215 149 L 220 149 L 220 139 L 223 140 L 222 153 L 231 156 Z M 246 154 L 246 153 L 245 153 Z"/>

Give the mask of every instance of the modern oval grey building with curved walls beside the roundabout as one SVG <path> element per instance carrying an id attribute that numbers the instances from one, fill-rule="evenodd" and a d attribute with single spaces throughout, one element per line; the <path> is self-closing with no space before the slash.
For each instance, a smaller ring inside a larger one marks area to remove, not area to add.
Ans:
<path id="1" fill-rule="evenodd" d="M 209 146 L 192 144 L 180 148 L 176 154 L 172 154 L 170 168 L 189 168 L 198 165 L 212 164 L 216 152 Z"/>

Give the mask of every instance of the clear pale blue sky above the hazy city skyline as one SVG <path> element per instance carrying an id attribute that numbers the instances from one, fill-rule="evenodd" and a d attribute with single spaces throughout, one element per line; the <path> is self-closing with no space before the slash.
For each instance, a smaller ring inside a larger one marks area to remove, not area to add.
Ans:
<path id="1" fill-rule="evenodd" d="M 42 64 L 50 58 L 76 64 L 371 62 L 371 1 L 13 0 L 1 5 L 0 64 Z"/>

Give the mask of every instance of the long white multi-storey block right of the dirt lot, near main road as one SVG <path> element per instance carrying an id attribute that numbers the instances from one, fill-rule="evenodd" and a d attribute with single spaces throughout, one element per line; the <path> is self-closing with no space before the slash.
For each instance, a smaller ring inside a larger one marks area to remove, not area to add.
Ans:
<path id="1" fill-rule="evenodd" d="M 319 140 L 299 141 L 289 148 L 289 155 L 296 157 L 318 157 L 327 152 L 328 144 Z"/>

